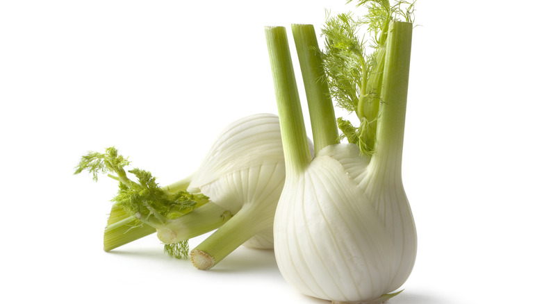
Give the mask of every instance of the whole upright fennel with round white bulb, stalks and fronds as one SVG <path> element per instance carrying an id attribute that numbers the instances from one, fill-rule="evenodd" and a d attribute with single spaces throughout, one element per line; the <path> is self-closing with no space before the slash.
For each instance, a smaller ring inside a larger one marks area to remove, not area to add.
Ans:
<path id="1" fill-rule="evenodd" d="M 313 159 L 303 140 L 286 30 L 266 30 L 286 158 L 286 182 L 274 220 L 277 264 L 300 292 L 334 303 L 380 303 L 394 296 L 389 293 L 407 280 L 416 256 L 416 228 L 401 177 L 412 24 L 395 21 L 395 7 L 386 7 L 386 1 L 375 2 L 382 5 L 386 20 L 380 23 L 381 47 L 370 69 L 359 67 L 363 79 L 354 79 L 361 86 L 350 90 L 361 92 L 352 99 L 360 127 L 338 120 L 351 144 L 338 143 L 336 125 L 323 131 L 313 127 L 315 143 L 323 143 Z M 334 27 L 328 29 L 348 28 L 345 22 L 351 19 L 341 17 L 345 19 L 330 20 Z M 345 76 L 337 67 L 345 56 L 315 53 L 312 26 L 294 25 L 293 33 L 306 91 L 317 92 L 307 94 L 311 124 L 329 125 L 334 113 L 321 110 L 331 103 L 329 91 L 348 95 L 340 92 L 346 80 L 337 79 Z M 352 51 L 352 44 L 338 45 L 340 41 L 327 37 L 331 47 L 347 45 Z M 322 58 L 331 90 L 322 81 Z M 329 69 L 329 62 L 336 66 Z M 368 119 L 372 112 L 376 121 Z"/>

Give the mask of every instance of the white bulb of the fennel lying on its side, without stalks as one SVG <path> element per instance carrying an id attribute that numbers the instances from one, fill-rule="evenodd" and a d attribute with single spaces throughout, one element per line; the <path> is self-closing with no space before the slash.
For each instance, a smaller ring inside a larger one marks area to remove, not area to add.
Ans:
<path id="1" fill-rule="evenodd" d="M 243 209 L 239 219 L 256 217 L 254 212 L 270 214 L 247 228 L 258 234 L 245 246 L 273 248 L 272 214 L 286 176 L 280 135 L 277 115 L 239 119 L 220 134 L 188 186 L 232 214 Z"/>

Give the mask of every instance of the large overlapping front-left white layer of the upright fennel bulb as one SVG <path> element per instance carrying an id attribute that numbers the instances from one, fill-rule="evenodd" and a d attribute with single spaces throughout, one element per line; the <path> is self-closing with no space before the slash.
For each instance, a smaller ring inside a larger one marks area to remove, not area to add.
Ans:
<path id="1" fill-rule="evenodd" d="M 388 291 L 392 239 L 334 158 L 317 155 L 302 174 L 288 178 L 274 227 L 279 269 L 303 294 L 355 301 Z"/>

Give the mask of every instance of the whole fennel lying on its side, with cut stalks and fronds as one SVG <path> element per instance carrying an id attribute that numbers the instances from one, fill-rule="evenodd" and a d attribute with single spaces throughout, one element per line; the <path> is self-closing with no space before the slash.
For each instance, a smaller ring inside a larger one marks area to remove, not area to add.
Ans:
<path id="1" fill-rule="evenodd" d="M 285 179 L 277 115 L 258 114 L 229 124 L 211 146 L 194 174 L 159 187 L 149 172 L 129 171 L 130 162 L 114 148 L 81 158 L 76 174 L 90 171 L 120 182 L 113 199 L 104 248 L 109 251 L 157 232 L 165 251 L 188 255 L 187 239 L 215 230 L 190 256 L 199 269 L 209 269 L 238 246 L 273 247 L 272 224 Z"/>

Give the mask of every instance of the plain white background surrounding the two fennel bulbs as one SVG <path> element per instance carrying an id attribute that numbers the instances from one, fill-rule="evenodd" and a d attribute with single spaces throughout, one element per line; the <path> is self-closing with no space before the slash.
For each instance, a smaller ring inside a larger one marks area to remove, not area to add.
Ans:
<path id="1" fill-rule="evenodd" d="M 352 6 L 0 3 L 3 298 L 327 303 L 286 285 L 269 251 L 239 248 L 211 271 L 163 255 L 154 236 L 104 253 L 116 183 L 72 172 L 115 145 L 163 185 L 187 176 L 223 126 L 277 112 L 263 26 L 320 28 L 326 8 Z M 403 167 L 418 260 L 390 303 L 539 303 L 540 9 L 418 1 Z"/>

